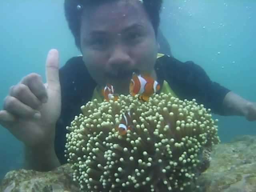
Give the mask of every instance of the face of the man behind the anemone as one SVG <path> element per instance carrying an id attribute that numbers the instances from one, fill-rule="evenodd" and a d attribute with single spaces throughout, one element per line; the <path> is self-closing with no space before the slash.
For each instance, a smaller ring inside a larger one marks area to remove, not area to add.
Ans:
<path id="1" fill-rule="evenodd" d="M 128 94 L 132 72 L 154 72 L 158 43 L 139 0 L 108 1 L 85 9 L 80 39 L 92 78 L 100 86 L 110 83 L 117 94 Z"/>

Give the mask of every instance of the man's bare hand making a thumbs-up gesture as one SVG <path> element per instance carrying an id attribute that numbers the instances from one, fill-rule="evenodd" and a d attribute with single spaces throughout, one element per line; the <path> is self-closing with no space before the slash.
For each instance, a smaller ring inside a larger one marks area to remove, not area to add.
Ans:
<path id="1" fill-rule="evenodd" d="M 60 117 L 59 54 L 50 50 L 46 60 L 46 83 L 31 73 L 10 87 L 0 111 L 0 124 L 26 146 L 54 144 L 55 124 Z"/>

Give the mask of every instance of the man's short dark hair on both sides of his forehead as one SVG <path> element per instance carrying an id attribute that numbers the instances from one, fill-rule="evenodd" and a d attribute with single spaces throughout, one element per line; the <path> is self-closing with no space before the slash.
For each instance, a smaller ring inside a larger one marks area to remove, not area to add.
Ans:
<path id="1" fill-rule="evenodd" d="M 99 4 L 105 3 L 107 1 L 113 0 L 65 0 L 65 16 L 68 22 L 68 26 L 75 38 L 76 46 L 81 49 L 80 45 L 80 28 L 81 28 L 81 18 L 82 9 L 88 8 L 89 6 L 97 6 Z M 158 26 L 160 23 L 160 11 L 162 7 L 162 0 L 143 0 L 143 6 L 148 14 L 154 32 L 157 36 Z"/>

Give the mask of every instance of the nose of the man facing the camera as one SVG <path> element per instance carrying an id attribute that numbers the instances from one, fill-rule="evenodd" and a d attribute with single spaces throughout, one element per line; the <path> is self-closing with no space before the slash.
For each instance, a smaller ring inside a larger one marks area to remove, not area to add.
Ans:
<path id="1" fill-rule="evenodd" d="M 131 58 L 128 54 L 128 50 L 120 45 L 114 46 L 110 54 L 108 63 L 110 66 L 126 66 L 130 64 Z"/>

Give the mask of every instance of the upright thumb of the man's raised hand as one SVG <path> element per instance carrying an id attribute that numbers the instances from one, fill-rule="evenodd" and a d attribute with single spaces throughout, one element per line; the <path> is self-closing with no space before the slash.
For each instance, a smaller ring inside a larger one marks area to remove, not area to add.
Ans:
<path id="1" fill-rule="evenodd" d="M 60 89 L 60 77 L 59 77 L 59 52 L 56 49 L 52 49 L 48 52 L 46 59 L 46 84 L 49 89 Z"/>

